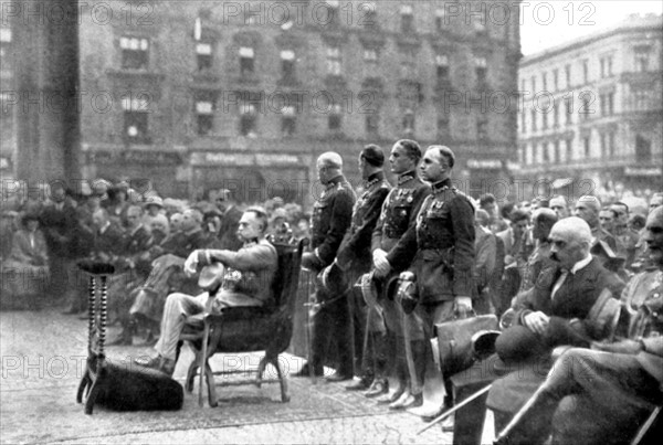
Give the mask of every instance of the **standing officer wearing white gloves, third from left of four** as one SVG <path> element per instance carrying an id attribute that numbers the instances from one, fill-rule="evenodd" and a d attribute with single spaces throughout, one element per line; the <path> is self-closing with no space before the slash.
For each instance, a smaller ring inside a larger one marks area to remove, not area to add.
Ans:
<path id="1" fill-rule="evenodd" d="M 387 295 L 390 288 L 389 284 L 394 282 L 398 273 L 402 271 L 391 267 L 387 257 L 392 254 L 400 255 L 403 248 L 408 248 L 402 244 L 402 236 L 408 227 L 414 226 L 419 209 L 425 197 L 430 194 L 430 187 L 417 176 L 417 166 L 420 160 L 421 148 L 415 141 L 402 139 L 393 145 L 389 163 L 391 172 L 398 176 L 398 180 L 382 204 L 380 219 L 373 230 L 371 241 L 375 276 L 381 282 L 382 295 L 379 306 L 383 327 L 379 329 L 376 324 L 369 328 L 376 330 L 373 333 L 376 350 L 385 348 L 392 362 L 390 363 L 391 370 L 376 369 L 377 377 L 365 395 L 371 398 L 387 392 L 389 389 L 387 377 L 390 372 L 394 372 L 399 385 L 392 389 L 391 393 L 378 399 L 378 403 L 390 403 L 390 407 L 393 409 L 407 407 L 417 402 L 407 384 L 406 356 L 409 354 L 412 335 L 423 337 L 420 332 L 410 332 L 412 324 L 406 322 L 407 316 L 400 306 Z M 406 325 L 408 325 L 408 329 L 406 329 Z"/>

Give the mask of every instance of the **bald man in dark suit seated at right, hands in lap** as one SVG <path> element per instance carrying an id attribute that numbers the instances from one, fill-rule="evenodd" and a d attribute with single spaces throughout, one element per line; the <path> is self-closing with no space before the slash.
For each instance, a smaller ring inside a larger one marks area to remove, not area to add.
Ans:
<path id="1" fill-rule="evenodd" d="M 549 240 L 555 264 L 543 269 L 535 286 L 518 296 L 522 309 L 514 326 L 495 343 L 506 370 L 514 371 L 495 381 L 488 393 L 486 404 L 495 412 L 496 427 L 504 426 L 543 382 L 556 346 L 589 347 L 600 339 L 589 312 L 603 289 L 617 297 L 624 286 L 589 253 L 592 234 L 580 218 L 555 223 Z"/>

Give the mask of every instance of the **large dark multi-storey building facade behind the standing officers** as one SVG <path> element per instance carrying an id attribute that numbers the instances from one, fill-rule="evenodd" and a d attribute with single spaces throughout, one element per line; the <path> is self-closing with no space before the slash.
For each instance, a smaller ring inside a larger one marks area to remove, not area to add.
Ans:
<path id="1" fill-rule="evenodd" d="M 493 7 L 82 2 L 81 173 L 306 204 L 319 153 L 358 183 L 364 145 L 407 137 L 452 147 L 476 195 L 516 160 L 516 107 L 494 103 L 517 91 L 518 8 Z"/>

